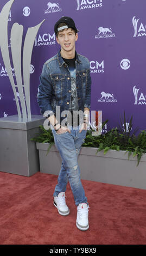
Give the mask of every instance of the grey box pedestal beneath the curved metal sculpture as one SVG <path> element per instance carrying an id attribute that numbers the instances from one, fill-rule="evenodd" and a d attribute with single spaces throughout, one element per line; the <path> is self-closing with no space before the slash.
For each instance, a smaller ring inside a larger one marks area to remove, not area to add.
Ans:
<path id="1" fill-rule="evenodd" d="M 0 118 L 0 172 L 31 176 L 40 171 L 36 143 L 30 139 L 44 120 L 42 115 L 31 115 L 31 121 L 20 121 L 17 115 Z"/>

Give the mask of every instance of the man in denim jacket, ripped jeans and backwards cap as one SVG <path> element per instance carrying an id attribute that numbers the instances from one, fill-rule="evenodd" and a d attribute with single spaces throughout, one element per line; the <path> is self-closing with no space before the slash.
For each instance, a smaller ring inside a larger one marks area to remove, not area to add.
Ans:
<path id="1" fill-rule="evenodd" d="M 80 230 L 87 230 L 88 202 L 80 180 L 78 155 L 85 141 L 90 116 L 90 62 L 75 51 L 78 30 L 70 17 L 61 17 L 55 23 L 54 31 L 61 50 L 43 65 L 37 94 L 41 113 L 50 122 L 62 159 L 53 194 L 54 205 L 60 215 L 69 214 L 65 199 L 69 181 L 77 205 L 76 225 Z"/>

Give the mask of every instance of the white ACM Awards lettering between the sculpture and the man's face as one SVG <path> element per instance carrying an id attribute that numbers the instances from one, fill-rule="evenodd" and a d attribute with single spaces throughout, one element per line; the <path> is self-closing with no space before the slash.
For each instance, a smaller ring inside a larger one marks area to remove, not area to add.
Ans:
<path id="1" fill-rule="evenodd" d="M 50 35 L 49 33 L 45 33 L 43 35 L 36 36 L 34 46 L 45 46 L 45 45 L 55 45 L 55 33 Z"/>

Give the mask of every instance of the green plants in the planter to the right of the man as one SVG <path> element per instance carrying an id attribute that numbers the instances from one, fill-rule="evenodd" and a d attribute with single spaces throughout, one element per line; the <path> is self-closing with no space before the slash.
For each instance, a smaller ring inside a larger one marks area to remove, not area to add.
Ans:
<path id="1" fill-rule="evenodd" d="M 121 125 L 121 126 L 120 126 Z M 133 153 L 133 157 L 137 156 L 137 166 L 141 157 L 146 153 L 146 132 L 145 130 L 140 131 L 138 136 L 135 136 L 135 133 L 138 131 L 138 127 L 131 132 L 132 130 L 132 117 L 129 120 L 126 120 L 125 111 L 124 119 L 120 118 L 120 125 L 118 128 L 113 128 L 106 135 L 100 135 L 101 141 L 99 143 L 98 150 L 96 154 L 104 150 L 104 154 L 107 153 L 109 149 L 113 150 L 126 150 L 128 153 L 128 159 Z"/>

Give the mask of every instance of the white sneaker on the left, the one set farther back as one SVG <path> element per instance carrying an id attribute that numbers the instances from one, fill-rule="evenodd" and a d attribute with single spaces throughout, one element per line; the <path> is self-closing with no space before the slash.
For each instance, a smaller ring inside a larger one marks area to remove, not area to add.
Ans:
<path id="1" fill-rule="evenodd" d="M 66 216 L 69 214 L 68 206 L 65 201 L 65 192 L 60 192 L 58 197 L 54 197 L 54 205 L 58 209 L 59 214 Z"/>

